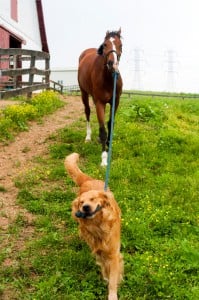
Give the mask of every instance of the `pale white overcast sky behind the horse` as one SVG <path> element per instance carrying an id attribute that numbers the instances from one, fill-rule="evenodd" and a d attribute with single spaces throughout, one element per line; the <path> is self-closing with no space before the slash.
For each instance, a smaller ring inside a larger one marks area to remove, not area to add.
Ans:
<path id="1" fill-rule="evenodd" d="M 82 50 L 122 29 L 128 89 L 199 93 L 199 0 L 42 0 L 51 68 L 77 68 Z"/>

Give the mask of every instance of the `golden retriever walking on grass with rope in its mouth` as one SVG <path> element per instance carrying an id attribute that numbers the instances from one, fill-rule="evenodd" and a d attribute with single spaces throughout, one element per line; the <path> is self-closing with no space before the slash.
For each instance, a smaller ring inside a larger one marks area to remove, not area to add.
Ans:
<path id="1" fill-rule="evenodd" d="M 120 253 L 121 212 L 113 194 L 104 191 L 104 182 L 84 174 L 78 167 L 79 154 L 66 157 L 64 165 L 79 186 L 72 202 L 72 216 L 79 223 L 80 237 L 89 245 L 108 281 L 108 300 L 117 300 L 117 287 L 123 276 Z"/>

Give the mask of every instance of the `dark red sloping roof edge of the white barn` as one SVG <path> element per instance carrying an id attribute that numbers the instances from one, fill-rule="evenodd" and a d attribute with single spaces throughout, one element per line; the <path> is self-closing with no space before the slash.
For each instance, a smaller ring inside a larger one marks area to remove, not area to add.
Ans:
<path id="1" fill-rule="evenodd" d="M 49 53 L 48 49 L 48 42 L 46 37 L 46 29 L 44 23 L 44 14 L 43 14 L 43 7 L 42 7 L 42 0 L 35 0 L 37 6 L 37 15 L 39 20 L 39 30 L 41 36 L 41 43 L 42 43 L 42 51 Z"/>

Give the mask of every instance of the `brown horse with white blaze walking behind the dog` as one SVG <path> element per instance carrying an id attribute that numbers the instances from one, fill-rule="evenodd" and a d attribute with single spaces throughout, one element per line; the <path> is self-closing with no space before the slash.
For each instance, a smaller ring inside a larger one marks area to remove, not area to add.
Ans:
<path id="1" fill-rule="evenodd" d="M 102 144 L 102 166 L 107 165 L 107 151 L 111 135 L 111 109 L 113 101 L 114 72 L 116 83 L 115 112 L 122 93 L 122 78 L 118 65 L 122 54 L 121 29 L 107 31 L 103 44 L 98 48 L 86 49 L 79 58 L 78 81 L 87 120 L 86 141 L 91 140 L 89 95 L 92 96 L 99 122 L 99 140 Z M 110 104 L 108 135 L 105 128 L 105 108 Z"/>

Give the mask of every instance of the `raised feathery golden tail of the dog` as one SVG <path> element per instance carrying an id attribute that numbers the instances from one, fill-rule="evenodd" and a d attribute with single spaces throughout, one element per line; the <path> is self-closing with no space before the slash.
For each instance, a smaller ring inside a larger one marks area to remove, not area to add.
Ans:
<path id="1" fill-rule="evenodd" d="M 72 180 L 81 186 L 85 181 L 92 180 L 92 178 L 84 174 L 78 167 L 79 154 L 72 153 L 65 158 L 64 165 Z"/>

